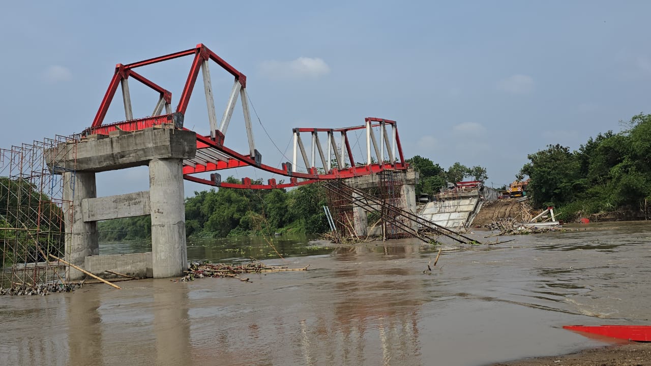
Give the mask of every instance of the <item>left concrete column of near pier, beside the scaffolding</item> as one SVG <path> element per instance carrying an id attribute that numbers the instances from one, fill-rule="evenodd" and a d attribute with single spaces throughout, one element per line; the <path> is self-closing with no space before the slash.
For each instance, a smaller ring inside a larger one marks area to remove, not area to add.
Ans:
<path id="1" fill-rule="evenodd" d="M 82 199 L 97 197 L 95 173 L 63 173 L 64 224 L 66 227 L 66 260 L 83 267 L 84 259 L 89 255 L 99 255 L 97 223 L 83 221 Z M 70 268 L 68 280 L 76 281 L 83 273 Z"/>

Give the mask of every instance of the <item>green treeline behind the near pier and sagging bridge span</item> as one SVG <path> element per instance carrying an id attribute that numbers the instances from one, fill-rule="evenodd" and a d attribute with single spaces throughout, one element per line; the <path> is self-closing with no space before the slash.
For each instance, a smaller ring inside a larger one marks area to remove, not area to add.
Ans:
<path id="1" fill-rule="evenodd" d="M 226 181 L 239 182 L 232 176 Z M 186 235 L 225 237 L 324 232 L 327 230 L 324 204 L 324 188 L 318 184 L 290 191 L 234 188 L 195 191 L 194 197 L 186 198 Z M 98 230 L 102 241 L 148 238 L 151 220 L 149 216 L 141 216 L 102 221 Z"/>

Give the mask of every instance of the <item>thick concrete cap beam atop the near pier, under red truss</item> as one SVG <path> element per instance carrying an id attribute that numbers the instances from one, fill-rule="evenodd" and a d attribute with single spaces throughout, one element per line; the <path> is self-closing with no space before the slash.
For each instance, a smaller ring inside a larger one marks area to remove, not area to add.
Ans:
<path id="1" fill-rule="evenodd" d="M 53 165 L 57 165 L 64 169 L 100 172 L 147 165 L 152 159 L 191 159 L 196 152 L 195 132 L 148 128 L 104 139 L 82 140 L 76 149 L 52 148 L 46 150 L 46 161 L 53 171 L 57 171 L 53 169 Z"/>

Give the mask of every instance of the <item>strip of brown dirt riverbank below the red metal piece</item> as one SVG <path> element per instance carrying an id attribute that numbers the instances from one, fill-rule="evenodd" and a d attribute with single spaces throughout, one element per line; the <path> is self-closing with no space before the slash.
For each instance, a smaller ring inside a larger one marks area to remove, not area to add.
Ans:
<path id="1" fill-rule="evenodd" d="M 651 366 L 651 343 L 626 343 L 563 356 L 519 359 L 491 366 Z"/>

